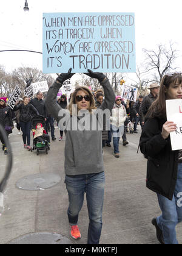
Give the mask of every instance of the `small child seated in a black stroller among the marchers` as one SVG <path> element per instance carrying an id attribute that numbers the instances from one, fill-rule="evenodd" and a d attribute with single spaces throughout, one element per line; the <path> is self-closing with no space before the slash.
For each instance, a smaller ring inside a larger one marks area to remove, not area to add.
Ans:
<path id="1" fill-rule="evenodd" d="M 50 149 L 50 137 L 45 132 L 44 123 L 45 121 L 42 116 L 32 118 L 33 150 L 37 150 L 37 155 L 39 154 L 39 150 L 45 149 L 45 153 L 48 154 Z"/>

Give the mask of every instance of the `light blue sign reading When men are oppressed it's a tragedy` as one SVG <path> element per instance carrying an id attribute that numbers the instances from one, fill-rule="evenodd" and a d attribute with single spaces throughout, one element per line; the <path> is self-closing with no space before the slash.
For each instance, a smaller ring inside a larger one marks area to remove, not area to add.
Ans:
<path id="1" fill-rule="evenodd" d="M 135 13 L 43 13 L 43 73 L 136 71 Z"/>

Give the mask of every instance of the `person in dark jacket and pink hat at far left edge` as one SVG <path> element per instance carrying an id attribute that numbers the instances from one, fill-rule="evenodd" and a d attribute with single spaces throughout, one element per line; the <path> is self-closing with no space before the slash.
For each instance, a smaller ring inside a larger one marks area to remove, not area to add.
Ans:
<path id="1" fill-rule="evenodd" d="M 12 133 L 13 126 L 13 120 L 12 120 L 12 112 L 10 107 L 7 107 L 6 105 L 7 98 L 0 98 L 0 124 L 5 129 L 5 134 L 8 135 Z M 4 151 L 4 154 L 7 155 L 7 147 L 4 143 L 4 140 L 2 138 L 2 135 L 0 133 L 0 140 L 2 143 L 2 150 Z"/>

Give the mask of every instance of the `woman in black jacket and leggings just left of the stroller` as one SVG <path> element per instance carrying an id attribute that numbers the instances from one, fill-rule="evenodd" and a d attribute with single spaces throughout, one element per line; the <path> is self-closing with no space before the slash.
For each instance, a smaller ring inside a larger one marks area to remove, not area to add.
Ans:
<path id="1" fill-rule="evenodd" d="M 16 102 L 16 105 L 14 107 L 14 111 L 19 109 L 20 115 L 19 115 L 19 126 L 22 130 L 22 140 L 24 142 L 24 148 L 27 148 L 30 150 L 30 130 L 31 130 L 31 116 L 39 115 L 38 110 L 36 110 L 35 107 L 33 107 L 32 104 L 29 103 L 30 99 L 25 96 L 23 98 L 23 103 L 18 104 Z"/>

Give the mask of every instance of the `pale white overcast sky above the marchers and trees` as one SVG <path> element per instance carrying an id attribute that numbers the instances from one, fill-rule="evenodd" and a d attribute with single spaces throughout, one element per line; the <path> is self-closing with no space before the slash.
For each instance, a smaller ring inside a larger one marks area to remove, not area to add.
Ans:
<path id="1" fill-rule="evenodd" d="M 27 49 L 42 52 L 43 12 L 134 12 L 136 33 L 136 63 L 143 62 L 142 49 L 156 49 L 157 44 L 176 43 L 177 65 L 181 68 L 181 0 L 27 0 L 29 12 L 24 12 L 25 0 L 0 2 L 0 50 Z M 42 55 L 25 52 L 0 52 L 0 64 L 11 72 L 19 66 L 42 70 Z M 60 71 L 61 73 L 61 71 Z"/>

